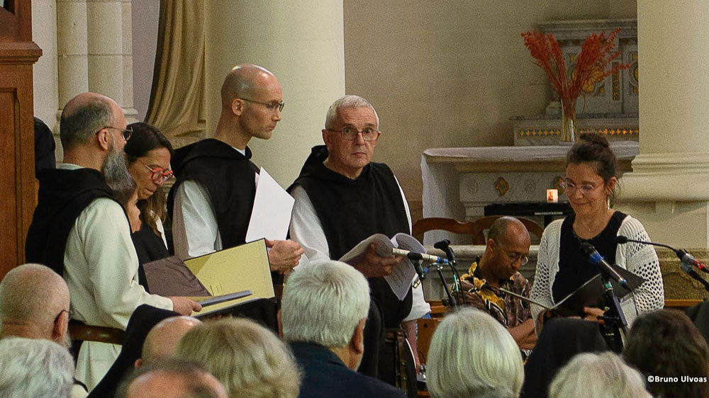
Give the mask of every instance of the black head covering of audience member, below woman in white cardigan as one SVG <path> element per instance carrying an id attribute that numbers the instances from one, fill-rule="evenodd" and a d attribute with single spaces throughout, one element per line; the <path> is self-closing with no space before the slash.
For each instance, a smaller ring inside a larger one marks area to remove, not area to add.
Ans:
<path id="1" fill-rule="evenodd" d="M 546 398 L 554 376 L 571 358 L 579 353 L 601 351 L 608 351 L 608 346 L 596 322 L 549 319 L 525 364 L 521 397 Z"/>

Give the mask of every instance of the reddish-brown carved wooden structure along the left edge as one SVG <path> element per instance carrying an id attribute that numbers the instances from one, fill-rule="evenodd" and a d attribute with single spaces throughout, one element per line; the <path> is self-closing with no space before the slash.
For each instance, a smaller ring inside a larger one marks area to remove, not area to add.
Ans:
<path id="1" fill-rule="evenodd" d="M 35 210 L 30 0 L 0 1 L 0 278 L 25 261 Z"/>

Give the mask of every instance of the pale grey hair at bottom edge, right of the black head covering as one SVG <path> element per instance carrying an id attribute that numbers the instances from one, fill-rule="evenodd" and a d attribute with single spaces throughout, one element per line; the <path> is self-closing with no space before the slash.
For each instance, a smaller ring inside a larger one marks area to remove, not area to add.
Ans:
<path id="1" fill-rule="evenodd" d="M 652 398 L 640 373 L 615 353 L 581 353 L 569 361 L 549 386 L 549 398 Z"/>

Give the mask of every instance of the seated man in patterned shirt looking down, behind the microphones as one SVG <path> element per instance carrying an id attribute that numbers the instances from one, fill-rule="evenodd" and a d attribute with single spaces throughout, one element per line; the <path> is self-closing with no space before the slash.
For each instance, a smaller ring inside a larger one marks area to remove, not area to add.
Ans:
<path id="1" fill-rule="evenodd" d="M 461 277 L 461 302 L 489 312 L 507 328 L 520 349 L 537 342 L 530 304 L 499 288 L 530 297 L 531 285 L 519 269 L 527 263 L 530 234 L 514 217 L 500 217 L 490 227 L 485 253 Z"/>

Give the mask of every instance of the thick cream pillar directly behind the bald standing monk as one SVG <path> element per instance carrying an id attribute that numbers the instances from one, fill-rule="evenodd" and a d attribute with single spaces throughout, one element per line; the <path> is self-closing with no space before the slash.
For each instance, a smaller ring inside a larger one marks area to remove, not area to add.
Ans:
<path id="1" fill-rule="evenodd" d="M 255 163 L 288 186 L 322 142 L 330 103 L 345 93 L 342 0 L 206 1 L 204 7 L 207 135 L 214 134 L 230 69 L 269 69 L 283 88 L 283 120 L 270 140 L 249 146 Z"/>

